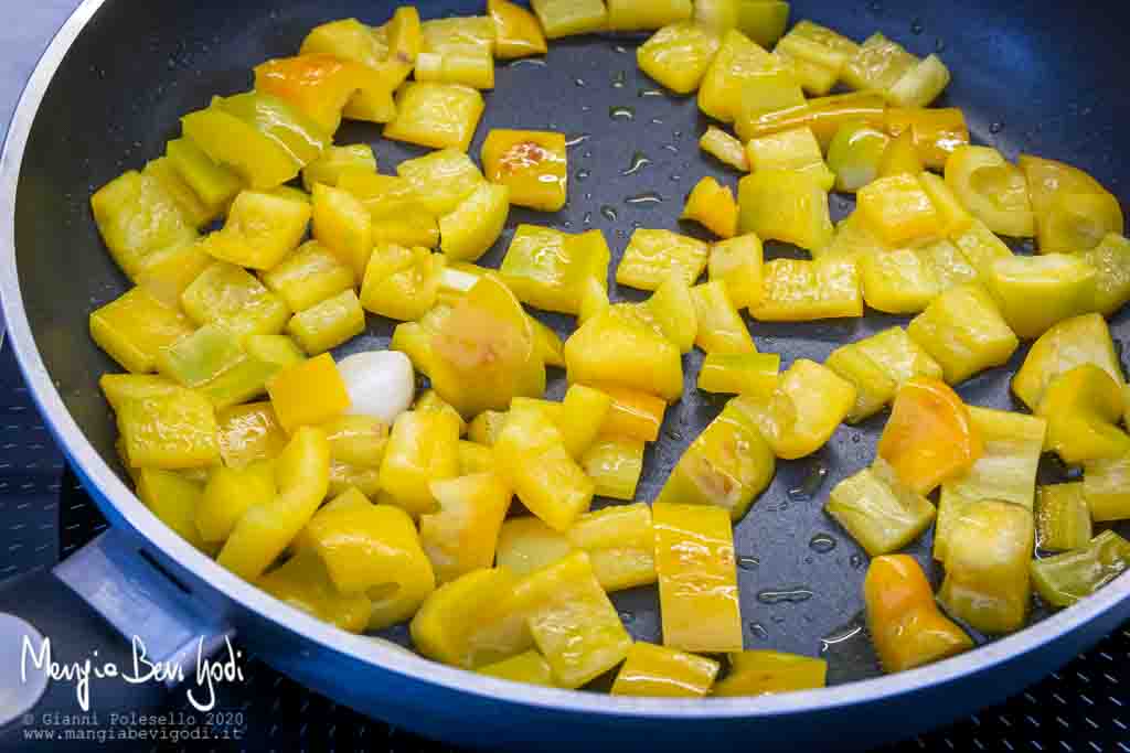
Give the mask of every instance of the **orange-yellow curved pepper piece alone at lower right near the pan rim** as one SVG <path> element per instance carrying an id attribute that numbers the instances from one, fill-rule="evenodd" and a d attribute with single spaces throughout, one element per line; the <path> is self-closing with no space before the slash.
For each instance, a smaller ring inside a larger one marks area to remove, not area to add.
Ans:
<path id="1" fill-rule="evenodd" d="M 933 590 L 907 554 L 871 561 L 863 580 L 867 629 L 884 672 L 913 669 L 973 648 L 973 641 L 941 613 Z"/>

